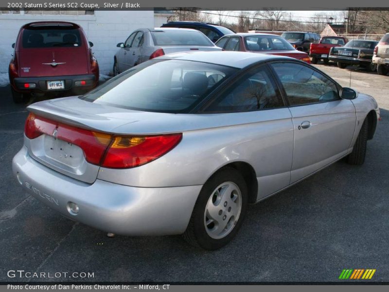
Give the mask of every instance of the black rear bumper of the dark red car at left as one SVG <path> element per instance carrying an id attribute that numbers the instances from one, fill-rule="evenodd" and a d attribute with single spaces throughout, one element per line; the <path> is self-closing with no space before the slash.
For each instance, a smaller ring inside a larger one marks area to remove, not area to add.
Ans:
<path id="1" fill-rule="evenodd" d="M 13 87 L 16 91 L 20 92 L 59 92 L 59 91 L 70 91 L 73 89 L 79 90 L 90 90 L 97 85 L 96 76 L 94 74 L 84 75 L 66 75 L 66 76 L 44 76 L 44 77 L 17 77 L 13 80 Z M 59 90 L 48 90 L 47 81 L 53 80 L 64 80 L 65 88 Z M 85 85 L 77 85 L 77 81 L 84 80 Z M 35 88 L 25 88 L 25 83 L 35 84 Z"/>

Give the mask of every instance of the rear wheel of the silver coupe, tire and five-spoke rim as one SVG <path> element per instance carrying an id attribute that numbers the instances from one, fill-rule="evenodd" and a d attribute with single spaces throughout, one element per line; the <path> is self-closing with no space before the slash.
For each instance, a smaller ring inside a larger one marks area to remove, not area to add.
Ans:
<path id="1" fill-rule="evenodd" d="M 232 167 L 222 168 L 202 187 L 184 239 L 207 250 L 223 247 L 241 227 L 247 204 L 242 175 Z"/>

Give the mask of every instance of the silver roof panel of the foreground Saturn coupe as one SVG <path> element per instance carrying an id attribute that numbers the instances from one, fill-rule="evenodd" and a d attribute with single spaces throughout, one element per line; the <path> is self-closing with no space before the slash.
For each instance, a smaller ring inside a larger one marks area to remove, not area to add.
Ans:
<path id="1" fill-rule="evenodd" d="M 248 52 L 233 52 L 233 51 L 212 51 L 212 52 L 180 52 L 175 54 L 168 54 L 158 57 L 159 59 L 177 59 L 197 61 L 204 63 L 212 63 L 217 65 L 245 68 L 248 65 L 268 60 L 287 59 L 296 60 L 290 57 L 278 55 L 265 55 Z"/>

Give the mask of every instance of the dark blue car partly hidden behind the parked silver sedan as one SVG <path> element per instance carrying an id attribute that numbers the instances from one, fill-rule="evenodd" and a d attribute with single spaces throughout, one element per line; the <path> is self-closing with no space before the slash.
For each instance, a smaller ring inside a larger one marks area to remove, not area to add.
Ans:
<path id="1" fill-rule="evenodd" d="M 235 32 L 227 27 L 216 25 L 212 23 L 198 22 L 198 21 L 170 21 L 163 24 L 161 27 L 176 27 L 176 28 L 192 28 L 202 32 L 212 42 L 216 42 L 224 35 L 234 34 Z"/>

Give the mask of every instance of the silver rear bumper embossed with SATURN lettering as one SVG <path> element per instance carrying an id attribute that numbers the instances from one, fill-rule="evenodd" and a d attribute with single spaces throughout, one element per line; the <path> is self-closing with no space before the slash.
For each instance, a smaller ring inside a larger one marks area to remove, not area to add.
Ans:
<path id="1" fill-rule="evenodd" d="M 65 217 L 121 235 L 183 233 L 202 187 L 141 188 L 101 180 L 83 183 L 36 162 L 25 146 L 14 157 L 12 168 L 24 190 Z M 78 205 L 77 214 L 72 215 L 69 202 Z"/>

